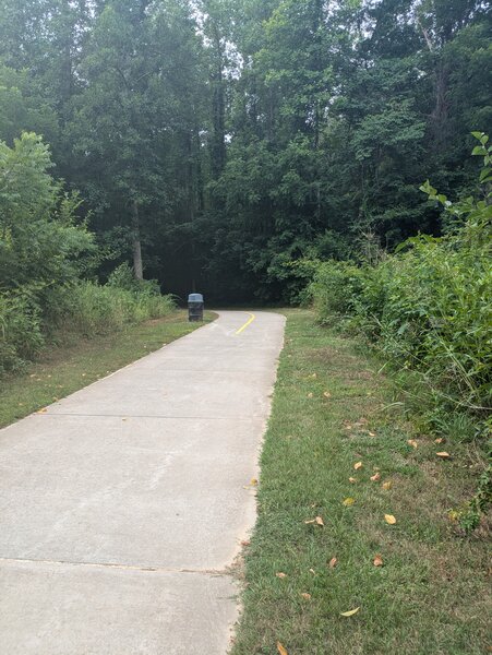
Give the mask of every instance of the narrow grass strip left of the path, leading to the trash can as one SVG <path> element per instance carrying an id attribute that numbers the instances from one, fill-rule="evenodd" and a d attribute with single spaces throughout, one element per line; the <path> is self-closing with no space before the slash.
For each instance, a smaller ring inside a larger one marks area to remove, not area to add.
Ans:
<path id="1" fill-rule="evenodd" d="M 205 312 L 206 322 L 214 318 L 212 312 Z M 0 427 L 104 378 L 200 325 L 189 323 L 187 312 L 176 311 L 109 336 L 76 337 L 71 346 L 46 350 L 22 373 L 0 379 Z"/>

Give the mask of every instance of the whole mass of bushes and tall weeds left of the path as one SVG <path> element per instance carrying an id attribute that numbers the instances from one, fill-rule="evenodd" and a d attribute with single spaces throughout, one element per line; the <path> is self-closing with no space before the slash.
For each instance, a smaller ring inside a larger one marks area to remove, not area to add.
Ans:
<path id="1" fill-rule="evenodd" d="M 48 147 L 24 132 L 0 142 L 0 374 L 33 359 L 57 331 L 83 336 L 121 330 L 173 308 L 158 285 L 128 265 L 107 286 L 83 281 L 100 261 L 77 221 L 81 200 L 50 176 Z"/>

